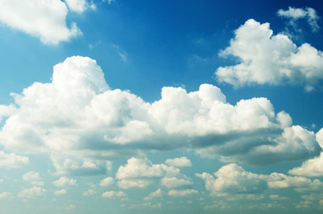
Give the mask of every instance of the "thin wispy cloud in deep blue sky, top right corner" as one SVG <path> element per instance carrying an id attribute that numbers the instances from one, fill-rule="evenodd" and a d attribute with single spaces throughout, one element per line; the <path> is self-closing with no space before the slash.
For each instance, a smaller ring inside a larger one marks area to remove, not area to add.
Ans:
<path id="1" fill-rule="evenodd" d="M 290 24 L 295 27 L 296 21 L 300 19 L 305 19 L 311 26 L 313 32 L 319 30 L 319 16 L 317 12 L 311 8 L 294 8 L 288 7 L 288 10 L 280 9 L 277 12 L 277 15 L 290 20 Z"/>

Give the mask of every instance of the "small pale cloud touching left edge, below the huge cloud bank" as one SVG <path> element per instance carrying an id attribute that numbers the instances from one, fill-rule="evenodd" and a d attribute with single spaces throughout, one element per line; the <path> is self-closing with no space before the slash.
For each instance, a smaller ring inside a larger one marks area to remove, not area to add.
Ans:
<path id="1" fill-rule="evenodd" d="M 21 168 L 29 165 L 29 158 L 15 153 L 4 153 L 0 151 L 0 168 Z"/>

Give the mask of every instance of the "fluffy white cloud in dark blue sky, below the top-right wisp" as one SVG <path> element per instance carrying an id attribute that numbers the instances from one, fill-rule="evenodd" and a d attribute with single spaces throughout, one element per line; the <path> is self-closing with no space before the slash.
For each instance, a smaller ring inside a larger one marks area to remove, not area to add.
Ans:
<path id="1" fill-rule="evenodd" d="M 215 72 L 219 82 L 235 87 L 287 83 L 311 91 L 323 80 L 323 53 L 307 43 L 297 46 L 286 35 L 273 35 L 269 23 L 245 21 L 220 55 L 240 61 Z"/>

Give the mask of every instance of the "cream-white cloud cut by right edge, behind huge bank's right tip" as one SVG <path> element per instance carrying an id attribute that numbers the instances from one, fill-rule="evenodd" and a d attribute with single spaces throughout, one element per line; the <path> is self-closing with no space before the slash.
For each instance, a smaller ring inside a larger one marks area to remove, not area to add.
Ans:
<path id="1" fill-rule="evenodd" d="M 323 128 L 316 134 L 319 145 L 323 148 Z M 301 167 L 296 167 L 288 171 L 289 174 L 304 177 L 323 177 L 323 152 L 319 157 L 304 161 Z"/>

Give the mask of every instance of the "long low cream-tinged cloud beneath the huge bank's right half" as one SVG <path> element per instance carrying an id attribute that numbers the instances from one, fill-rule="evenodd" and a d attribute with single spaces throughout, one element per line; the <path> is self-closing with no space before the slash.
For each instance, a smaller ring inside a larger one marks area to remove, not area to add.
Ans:
<path id="1" fill-rule="evenodd" d="M 298 192 L 307 192 L 319 190 L 323 186 L 318 179 L 291 177 L 277 172 L 270 175 L 255 174 L 236 163 L 221 167 L 214 175 L 203 172 L 195 176 L 205 181 L 206 190 L 218 196 L 264 193 L 269 188 L 293 188 Z"/>

